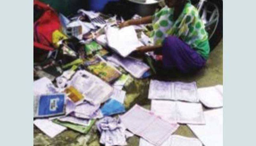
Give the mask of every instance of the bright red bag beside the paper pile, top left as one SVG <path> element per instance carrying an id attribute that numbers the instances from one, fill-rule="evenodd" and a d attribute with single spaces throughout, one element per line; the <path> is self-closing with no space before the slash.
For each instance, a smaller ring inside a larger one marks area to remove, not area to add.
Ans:
<path id="1" fill-rule="evenodd" d="M 54 50 L 52 33 L 60 29 L 58 14 L 48 5 L 34 0 L 34 8 L 43 10 L 42 16 L 34 22 L 34 47 L 43 50 Z"/>

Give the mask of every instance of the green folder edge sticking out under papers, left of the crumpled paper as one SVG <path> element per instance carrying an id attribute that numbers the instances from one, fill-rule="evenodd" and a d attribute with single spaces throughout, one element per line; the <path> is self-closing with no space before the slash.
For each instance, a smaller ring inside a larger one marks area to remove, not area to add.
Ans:
<path id="1" fill-rule="evenodd" d="M 62 122 L 58 119 L 54 119 L 54 120 L 52 120 L 52 122 L 59 124 L 61 126 L 64 126 L 64 127 L 68 127 L 70 129 L 73 129 L 80 133 L 87 134 L 91 130 L 92 125 L 95 123 L 95 119 L 91 120 L 91 123 L 89 126 L 83 126 L 83 125 L 73 124 L 73 123 L 69 123 L 69 122 Z"/>

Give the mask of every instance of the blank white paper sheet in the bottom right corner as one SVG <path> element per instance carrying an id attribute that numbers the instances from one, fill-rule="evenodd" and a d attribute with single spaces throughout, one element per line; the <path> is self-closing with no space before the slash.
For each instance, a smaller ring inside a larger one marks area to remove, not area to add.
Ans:
<path id="1" fill-rule="evenodd" d="M 205 146 L 223 146 L 223 108 L 204 111 L 205 125 L 188 127 Z"/>

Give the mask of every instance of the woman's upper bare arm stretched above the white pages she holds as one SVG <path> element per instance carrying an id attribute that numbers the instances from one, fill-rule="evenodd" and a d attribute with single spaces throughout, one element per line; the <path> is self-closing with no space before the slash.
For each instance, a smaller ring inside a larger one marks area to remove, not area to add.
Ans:
<path id="1" fill-rule="evenodd" d="M 130 25 L 148 24 L 152 22 L 152 16 L 142 17 L 140 19 L 130 19 L 119 24 L 119 27 L 127 27 Z"/>

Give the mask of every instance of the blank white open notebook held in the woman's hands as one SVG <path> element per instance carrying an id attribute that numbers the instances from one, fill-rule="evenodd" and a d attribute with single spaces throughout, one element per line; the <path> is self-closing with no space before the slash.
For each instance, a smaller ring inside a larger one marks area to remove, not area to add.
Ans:
<path id="1" fill-rule="evenodd" d="M 139 41 L 133 26 L 117 28 L 107 27 L 106 36 L 108 46 L 123 57 L 127 57 L 137 47 L 143 46 Z"/>

